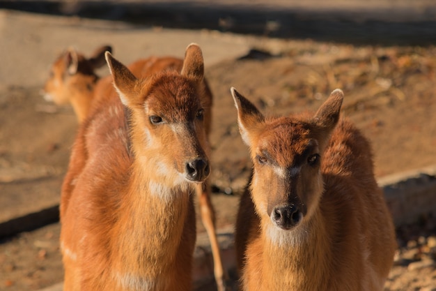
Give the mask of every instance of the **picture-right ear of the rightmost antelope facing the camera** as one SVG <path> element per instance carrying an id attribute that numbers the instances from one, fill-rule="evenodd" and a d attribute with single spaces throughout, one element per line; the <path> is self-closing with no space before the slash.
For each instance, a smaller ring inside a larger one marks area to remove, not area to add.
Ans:
<path id="1" fill-rule="evenodd" d="M 343 101 L 343 91 L 336 89 L 316 112 L 313 121 L 317 126 L 330 133 L 339 120 Z"/>

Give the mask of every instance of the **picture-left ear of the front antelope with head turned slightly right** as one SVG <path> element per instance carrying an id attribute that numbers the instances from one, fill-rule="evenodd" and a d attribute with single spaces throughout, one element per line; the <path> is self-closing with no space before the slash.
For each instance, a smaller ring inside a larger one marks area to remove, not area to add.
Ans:
<path id="1" fill-rule="evenodd" d="M 127 107 L 139 103 L 139 94 L 137 94 L 137 84 L 139 83 L 130 70 L 112 57 L 110 52 L 105 52 L 107 65 L 111 71 L 114 87 L 120 96 L 121 102 Z"/>

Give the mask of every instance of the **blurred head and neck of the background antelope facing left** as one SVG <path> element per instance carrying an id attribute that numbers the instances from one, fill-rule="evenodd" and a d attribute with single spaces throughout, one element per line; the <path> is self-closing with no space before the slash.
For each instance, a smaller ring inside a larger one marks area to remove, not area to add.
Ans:
<path id="1" fill-rule="evenodd" d="M 106 64 L 104 52 L 107 51 L 111 52 L 111 47 L 104 45 L 89 58 L 73 49 L 63 52 L 54 61 L 49 79 L 45 82 L 42 92 L 45 100 L 58 105 L 70 103 L 79 122 L 83 121 L 100 80 L 95 70 Z M 107 78 L 106 84 L 110 85 L 110 78 Z"/>

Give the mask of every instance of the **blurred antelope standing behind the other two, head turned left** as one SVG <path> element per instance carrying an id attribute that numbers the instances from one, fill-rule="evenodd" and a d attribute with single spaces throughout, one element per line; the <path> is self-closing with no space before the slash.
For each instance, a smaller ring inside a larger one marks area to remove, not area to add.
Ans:
<path id="1" fill-rule="evenodd" d="M 53 100 L 57 104 L 72 103 L 79 123 L 87 117 L 88 112 L 93 107 L 91 105 L 93 100 L 107 98 L 107 96 L 111 96 L 111 91 L 114 91 L 114 87 L 111 84 L 111 76 L 99 79 L 93 73 L 94 69 L 101 66 L 102 62 L 106 64 L 104 61 L 104 50 L 111 52 L 111 47 L 101 47 L 89 59 L 86 59 L 83 54 L 74 50 L 68 50 L 53 64 L 51 77 L 45 85 L 46 99 Z M 136 77 L 142 78 L 166 70 L 178 70 L 180 72 L 182 66 L 182 59 L 174 57 L 149 57 L 148 59 L 134 61 L 128 68 Z M 212 93 L 205 79 L 203 79 L 201 86 L 203 86 L 203 98 L 205 98 L 205 103 L 208 105 L 204 108 L 203 114 L 205 132 L 208 137 L 212 121 Z M 97 107 L 100 106 L 99 102 L 96 103 Z M 209 145 L 207 144 L 206 146 L 208 147 Z M 210 149 L 207 151 L 209 152 Z M 75 170 L 71 172 L 72 174 L 77 174 L 77 172 L 81 171 L 81 168 L 84 166 L 84 158 L 76 158 Z M 70 188 L 70 185 L 65 187 L 65 192 L 71 191 L 68 188 Z M 196 193 L 199 198 L 201 220 L 210 237 L 218 290 L 224 291 L 227 274 L 222 266 L 219 254 L 219 244 L 214 225 L 215 211 L 210 201 L 210 188 L 205 186 L 205 184 L 197 184 Z M 63 208 L 64 205 L 61 206 L 61 209 Z"/>

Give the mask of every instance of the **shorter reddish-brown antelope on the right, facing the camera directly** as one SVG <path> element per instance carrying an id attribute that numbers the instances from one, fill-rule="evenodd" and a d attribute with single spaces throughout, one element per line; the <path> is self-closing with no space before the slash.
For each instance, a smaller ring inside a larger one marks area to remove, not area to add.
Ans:
<path id="1" fill-rule="evenodd" d="M 368 141 L 338 122 L 342 91 L 313 116 L 279 118 L 231 93 L 254 165 L 236 223 L 241 289 L 383 290 L 394 226 Z"/>

